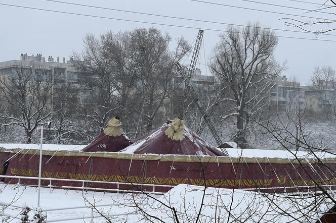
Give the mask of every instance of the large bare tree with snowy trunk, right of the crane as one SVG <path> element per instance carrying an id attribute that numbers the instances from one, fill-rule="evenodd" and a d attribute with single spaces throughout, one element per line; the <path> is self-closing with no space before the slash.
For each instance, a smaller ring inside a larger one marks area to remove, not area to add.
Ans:
<path id="1" fill-rule="evenodd" d="M 267 106 L 265 99 L 274 78 L 284 69 L 272 58 L 277 44 L 275 34 L 258 23 L 240 30 L 230 26 L 214 49 L 211 70 L 223 87 L 229 86 L 222 121 L 236 117 L 235 141 L 246 147 L 245 130 L 249 117 L 258 116 Z"/>

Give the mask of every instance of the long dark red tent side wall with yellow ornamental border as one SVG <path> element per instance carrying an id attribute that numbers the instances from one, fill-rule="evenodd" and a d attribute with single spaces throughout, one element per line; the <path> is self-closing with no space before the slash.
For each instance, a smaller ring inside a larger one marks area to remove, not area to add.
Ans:
<path id="1" fill-rule="evenodd" d="M 22 151 L 10 160 L 8 176 L 38 176 L 38 153 Z M 34 153 L 36 153 L 34 155 Z M 55 154 L 54 154 L 55 153 Z M 1 153 L 4 157 L 15 153 Z M 74 155 L 77 154 L 77 155 Z M 295 160 L 271 160 L 246 158 L 246 162 L 228 157 L 197 156 L 157 156 L 118 153 L 71 153 L 44 152 L 42 176 L 58 179 L 78 179 L 109 182 L 130 182 L 155 184 L 156 190 L 167 191 L 159 185 L 178 185 L 181 183 L 207 185 L 222 188 L 270 188 L 306 186 L 315 182 L 327 180 L 327 184 L 336 184 L 330 170 L 336 170 L 334 162 L 327 162 L 327 167 L 319 167 L 318 163 L 299 164 Z M 132 158 L 133 157 L 133 158 Z M 282 162 L 282 163 L 281 163 Z M 313 166 L 314 170 L 311 169 Z M 234 168 L 233 168 L 234 167 Z M 6 180 L 16 183 L 15 180 Z M 36 185 L 36 180 L 21 181 L 24 184 Z M 49 185 L 43 181 L 42 185 Z M 78 186 L 81 183 L 53 181 L 53 186 Z M 87 183 L 87 187 L 116 189 L 116 185 L 102 183 Z M 133 190 L 134 186 L 120 185 L 119 189 Z M 142 187 L 142 190 L 152 190 L 152 187 Z M 305 189 L 306 190 L 306 189 Z M 276 192 L 272 189 L 269 192 Z"/>

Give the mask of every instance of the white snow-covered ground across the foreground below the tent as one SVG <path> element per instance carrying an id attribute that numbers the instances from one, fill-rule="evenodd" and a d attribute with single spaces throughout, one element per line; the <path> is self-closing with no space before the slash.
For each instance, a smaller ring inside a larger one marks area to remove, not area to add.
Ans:
<path id="1" fill-rule="evenodd" d="M 17 185 L 0 184 L 0 201 L 10 203 L 15 206 L 29 206 L 32 210 L 36 208 L 37 189 L 35 187 L 17 187 Z M 203 196 L 204 194 L 204 196 Z M 198 216 L 201 203 L 201 221 L 215 222 L 215 216 L 220 222 L 227 221 L 230 216 L 231 221 L 248 222 L 301 222 L 308 220 L 312 222 L 321 213 L 328 210 L 330 206 L 327 202 L 320 202 L 320 206 L 312 208 L 315 203 L 314 198 L 281 197 L 278 195 L 259 194 L 244 190 L 216 189 L 199 186 L 180 184 L 164 195 L 147 197 L 143 194 L 116 194 L 102 192 L 88 192 L 74 190 L 55 189 L 52 193 L 47 188 L 41 189 L 41 209 L 47 210 L 47 222 L 55 222 L 56 219 L 79 218 L 76 220 L 66 220 L 62 222 L 89 222 L 91 216 L 90 208 L 65 209 L 58 211 L 48 211 L 49 209 L 85 206 L 86 197 L 90 202 L 94 199 L 97 205 L 111 205 L 107 207 L 97 207 L 105 214 L 109 212 L 111 222 L 175 222 L 173 211 L 169 207 L 174 207 L 176 216 L 180 222 L 194 222 Z M 202 198 L 203 202 L 202 202 Z M 325 200 L 327 201 L 327 200 Z M 121 205 L 123 204 L 123 205 Z M 140 213 L 135 204 L 146 212 Z M 90 206 L 90 205 L 89 205 Z M 104 208 L 104 209 L 102 209 Z M 19 215 L 21 209 L 8 207 L 5 214 Z M 89 218 L 82 219 L 83 216 Z M 155 219 L 157 218 L 157 219 Z M 297 218 L 297 220 L 295 220 Z M 1 217 L 0 217 L 1 219 Z M 20 222 L 15 219 L 12 222 Z M 94 222 L 106 222 L 104 218 L 95 218 Z M 217 222 L 217 221 L 216 221 Z M 306 221 L 305 221 L 306 222 Z M 315 221 L 314 221 L 315 222 Z"/>

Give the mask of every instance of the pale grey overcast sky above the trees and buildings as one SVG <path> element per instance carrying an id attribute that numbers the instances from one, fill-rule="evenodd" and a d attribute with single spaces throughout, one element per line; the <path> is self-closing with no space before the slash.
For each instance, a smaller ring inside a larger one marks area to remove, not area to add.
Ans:
<path id="1" fill-rule="evenodd" d="M 88 1 L 88 0 L 61 0 L 63 2 L 86 4 L 99 7 L 107 7 L 119 10 L 137 11 L 142 13 L 160 14 L 166 16 L 184 17 L 197 20 L 207 20 L 221 23 L 233 23 L 244 25 L 248 21 L 259 21 L 262 26 L 275 29 L 288 29 L 299 31 L 298 28 L 287 27 L 284 17 L 291 17 L 300 20 L 314 20 L 302 17 L 279 15 L 275 13 L 252 11 L 247 9 L 237 9 L 228 6 L 220 6 L 195 2 L 191 0 L 122 0 L 122 1 Z M 260 3 L 278 4 L 287 7 L 303 9 L 317 9 L 317 5 L 299 3 L 293 0 L 255 0 L 253 3 L 246 0 L 203 0 L 206 2 L 220 3 L 231 6 L 273 11 L 279 13 L 295 14 L 301 16 L 311 16 L 325 19 L 332 19 L 334 16 L 325 13 L 306 13 L 303 10 L 290 9 L 263 5 Z M 305 0 L 323 4 L 325 0 Z M 173 18 L 162 18 L 157 16 L 139 15 L 127 12 L 117 12 L 111 10 L 95 9 L 82 6 L 66 5 L 46 0 L 0 0 L 0 4 L 11 4 L 55 11 L 64 11 L 78 14 L 88 14 L 102 17 L 118 19 L 137 20 L 143 22 L 164 23 L 179 26 L 190 26 L 204 29 L 225 30 L 226 25 L 187 21 Z M 173 39 L 183 35 L 192 42 L 198 30 L 190 28 L 170 27 L 164 25 L 152 25 L 138 22 L 128 22 L 112 19 L 93 18 L 79 15 L 67 15 L 56 12 L 38 11 L 18 7 L 0 5 L 0 61 L 19 60 L 21 53 L 29 55 L 42 53 L 48 58 L 69 58 L 73 51 L 82 49 L 82 38 L 90 32 L 96 35 L 107 30 L 132 30 L 137 27 L 154 26 L 162 32 L 168 32 Z M 211 56 L 216 42 L 219 40 L 218 31 L 204 31 L 205 53 L 201 52 L 201 63 L 205 64 Z M 279 38 L 279 44 L 275 50 L 275 59 L 279 62 L 287 61 L 288 69 L 284 75 L 296 76 L 302 84 L 308 83 L 315 66 L 330 65 L 336 69 L 334 62 L 334 52 L 336 51 L 336 36 L 319 35 L 318 37 L 309 33 L 295 33 L 276 31 L 278 36 L 328 39 L 335 42 Z M 335 34 L 330 33 L 330 34 Z M 187 63 L 187 62 L 186 62 Z M 205 66 L 200 65 L 203 74 L 209 74 Z"/>

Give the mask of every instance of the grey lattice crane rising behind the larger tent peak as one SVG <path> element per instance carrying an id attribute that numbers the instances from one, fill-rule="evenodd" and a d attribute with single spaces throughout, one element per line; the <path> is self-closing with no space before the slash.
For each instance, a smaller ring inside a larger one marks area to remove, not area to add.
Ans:
<path id="1" fill-rule="evenodd" d="M 177 70 L 179 71 L 179 73 L 180 73 L 180 75 L 181 75 L 181 77 L 182 77 L 182 79 L 184 80 L 184 83 L 185 83 L 185 87 L 184 87 L 185 96 L 186 96 L 186 93 L 190 92 L 194 102 L 196 103 L 196 106 L 198 107 L 198 109 L 199 109 L 199 111 L 200 111 L 200 113 L 203 117 L 203 122 L 205 122 L 207 124 L 207 126 L 210 129 L 211 133 L 213 134 L 217 144 L 220 146 L 220 145 L 223 144 L 223 142 L 222 142 L 221 138 L 219 137 L 214 125 L 209 120 L 208 115 L 206 114 L 202 105 L 200 104 L 200 102 L 197 98 L 195 89 L 192 87 L 191 81 L 190 81 L 192 79 L 193 75 L 194 75 L 194 72 L 195 72 L 196 62 L 197 62 L 197 58 L 198 58 L 198 54 L 199 54 L 199 49 L 200 49 L 200 46 L 201 46 L 201 43 L 202 43 L 202 39 L 203 39 L 203 30 L 199 30 L 198 35 L 197 35 L 197 39 L 196 39 L 196 43 L 195 43 L 195 47 L 194 47 L 194 51 L 193 51 L 193 54 L 192 54 L 192 59 L 191 59 L 188 74 L 186 74 L 186 72 L 184 71 L 184 69 L 180 65 L 180 63 L 177 62 L 175 65 L 176 65 Z M 221 148 L 221 150 L 222 150 L 222 152 L 225 156 L 229 156 L 228 152 L 224 148 Z"/>

